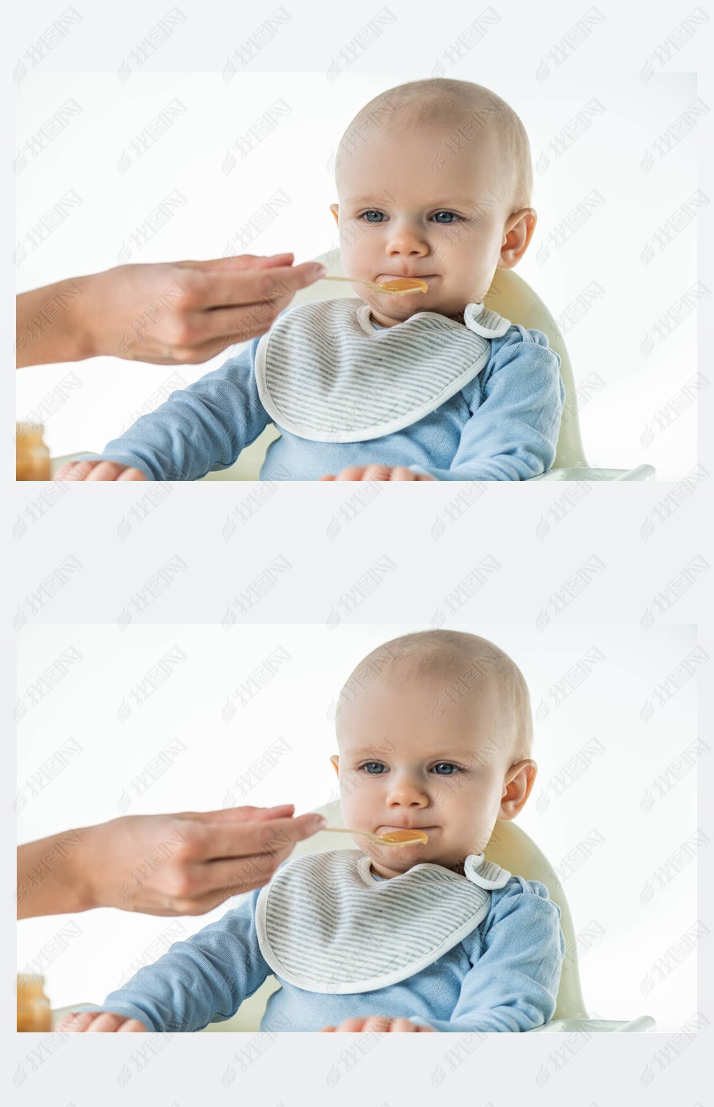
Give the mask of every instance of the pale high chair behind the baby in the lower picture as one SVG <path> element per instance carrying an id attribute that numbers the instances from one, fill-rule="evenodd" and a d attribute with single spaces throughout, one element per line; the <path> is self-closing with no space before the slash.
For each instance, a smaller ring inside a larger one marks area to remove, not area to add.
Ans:
<path id="1" fill-rule="evenodd" d="M 328 826 L 344 826 L 339 801 L 325 804 L 317 808 L 318 815 L 324 815 Z M 321 830 L 319 834 L 298 842 L 291 857 L 303 853 L 324 853 L 333 849 L 355 849 L 355 845 L 348 835 L 330 834 Z M 494 828 L 490 841 L 485 849 L 487 861 L 495 861 L 503 869 L 507 869 L 514 876 L 524 877 L 526 880 L 538 880 L 548 889 L 550 899 L 558 904 L 561 911 L 560 927 L 566 940 L 566 956 L 558 989 L 558 1001 L 552 1021 L 544 1026 L 538 1026 L 530 1034 L 537 1032 L 551 1031 L 556 1033 L 571 1033 L 580 1031 L 583 1033 L 603 1033 L 607 1031 L 642 1033 L 654 1027 L 655 1022 L 650 1015 L 641 1015 L 631 1021 L 613 1022 L 612 1020 L 591 1018 L 588 1015 L 582 992 L 580 990 L 580 973 L 578 970 L 578 946 L 575 939 L 572 918 L 568 907 L 566 893 L 558 880 L 552 867 L 548 863 L 545 855 L 538 849 L 528 835 L 516 826 L 515 823 L 498 821 Z M 236 896 L 228 901 L 230 908 L 235 908 L 239 902 L 247 899 L 250 893 Z M 260 1020 L 266 1010 L 268 997 L 279 989 L 275 976 L 269 976 L 251 996 L 245 1000 L 235 1015 L 223 1023 L 210 1023 L 204 1032 L 244 1032 L 256 1033 L 260 1027 Z M 86 1003 L 77 1003 L 71 1007 L 62 1007 L 53 1011 L 53 1025 L 70 1011 L 77 1007 L 86 1007 Z"/>

